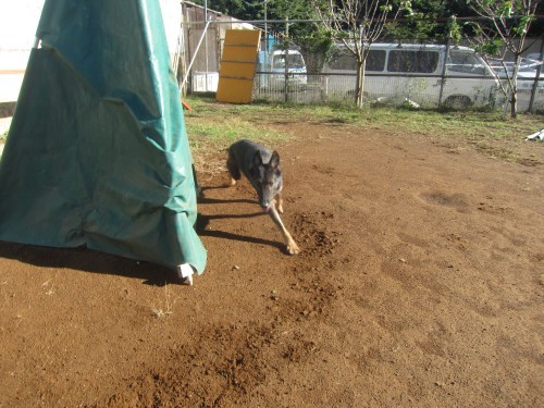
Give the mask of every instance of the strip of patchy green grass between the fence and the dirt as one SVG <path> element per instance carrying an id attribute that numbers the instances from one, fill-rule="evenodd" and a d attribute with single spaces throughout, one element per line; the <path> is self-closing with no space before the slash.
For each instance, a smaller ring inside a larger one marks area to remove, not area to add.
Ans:
<path id="1" fill-rule="evenodd" d="M 519 160 L 523 154 L 529 160 L 536 157 L 537 161 L 544 161 L 541 159 L 542 145 L 524 140 L 527 135 L 542 128 L 542 115 L 519 114 L 512 121 L 504 120 L 498 110 L 454 112 L 381 106 L 357 109 L 265 102 L 226 104 L 211 97 L 189 97 L 187 101 L 193 108 L 185 111 L 187 132 L 196 156 L 224 150 L 240 138 L 277 145 L 295 137 L 288 131 L 289 123 L 314 123 L 346 131 L 379 131 L 381 135 L 394 137 L 428 137 L 449 146 L 453 151 L 468 146 L 485 156 L 508 161 Z M 306 136 L 313 137 L 297 137 Z"/>

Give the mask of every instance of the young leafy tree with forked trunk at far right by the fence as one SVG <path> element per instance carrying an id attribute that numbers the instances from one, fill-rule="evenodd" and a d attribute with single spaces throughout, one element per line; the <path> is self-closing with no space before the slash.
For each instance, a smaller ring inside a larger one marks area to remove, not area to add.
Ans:
<path id="1" fill-rule="evenodd" d="M 541 0 L 469 0 L 472 10 L 484 18 L 475 22 L 477 49 L 485 58 L 496 58 L 506 73 L 506 86 L 500 89 L 510 102 L 510 118 L 518 110 L 518 70 L 521 54 L 526 51 L 526 38 L 535 20 Z M 506 69 L 507 52 L 514 57 L 514 69 Z"/>

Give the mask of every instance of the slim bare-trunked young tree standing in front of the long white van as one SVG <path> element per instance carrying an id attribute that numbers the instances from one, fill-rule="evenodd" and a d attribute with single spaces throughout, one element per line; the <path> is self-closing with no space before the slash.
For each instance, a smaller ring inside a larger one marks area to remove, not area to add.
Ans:
<path id="1" fill-rule="evenodd" d="M 335 41 L 344 45 L 357 64 L 355 102 L 359 108 L 364 96 L 364 63 L 387 22 L 397 18 L 401 10 L 411 12 L 410 1 L 395 0 L 312 0 L 323 25 Z"/>

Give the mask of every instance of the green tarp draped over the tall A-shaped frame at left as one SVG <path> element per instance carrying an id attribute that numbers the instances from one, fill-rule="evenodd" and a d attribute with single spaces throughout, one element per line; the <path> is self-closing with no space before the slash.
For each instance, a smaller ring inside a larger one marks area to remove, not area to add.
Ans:
<path id="1" fill-rule="evenodd" d="M 37 37 L 0 161 L 0 239 L 201 273 L 159 2 L 47 0 Z"/>

